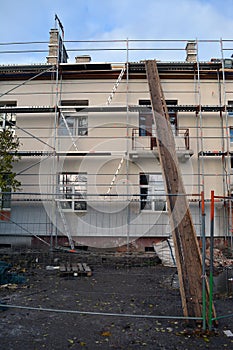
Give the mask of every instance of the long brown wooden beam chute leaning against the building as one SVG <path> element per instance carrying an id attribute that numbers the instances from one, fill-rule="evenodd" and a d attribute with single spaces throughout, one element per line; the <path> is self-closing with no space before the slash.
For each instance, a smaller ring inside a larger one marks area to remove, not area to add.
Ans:
<path id="1" fill-rule="evenodd" d="M 163 95 L 156 61 L 146 61 L 146 72 L 156 127 L 157 145 L 167 193 L 168 210 L 175 246 L 183 313 L 203 317 L 202 261 L 195 228 L 176 155 L 175 139 Z M 206 321 L 209 287 L 206 280 Z M 216 316 L 213 309 L 213 315 Z"/>

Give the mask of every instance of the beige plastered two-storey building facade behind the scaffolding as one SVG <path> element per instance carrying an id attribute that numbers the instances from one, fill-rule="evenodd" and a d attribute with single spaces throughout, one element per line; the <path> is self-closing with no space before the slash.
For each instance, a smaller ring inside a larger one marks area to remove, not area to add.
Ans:
<path id="1" fill-rule="evenodd" d="M 198 62 L 195 50 L 189 42 L 186 60 L 157 66 L 197 235 L 210 234 L 214 190 L 215 236 L 229 243 L 232 60 Z M 145 63 L 67 59 L 52 30 L 47 63 L 0 67 L 0 127 L 21 156 L 21 189 L 2 196 L 0 245 L 150 250 L 171 227 Z"/>

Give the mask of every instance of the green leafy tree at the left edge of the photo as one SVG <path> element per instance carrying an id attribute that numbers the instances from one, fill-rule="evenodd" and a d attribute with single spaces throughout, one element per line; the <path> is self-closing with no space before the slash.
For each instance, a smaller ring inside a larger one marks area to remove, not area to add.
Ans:
<path id="1" fill-rule="evenodd" d="M 13 172 L 13 164 L 20 159 L 19 139 L 10 129 L 0 131 L 0 194 L 1 209 L 10 207 L 11 191 L 20 188 L 21 183 Z"/>

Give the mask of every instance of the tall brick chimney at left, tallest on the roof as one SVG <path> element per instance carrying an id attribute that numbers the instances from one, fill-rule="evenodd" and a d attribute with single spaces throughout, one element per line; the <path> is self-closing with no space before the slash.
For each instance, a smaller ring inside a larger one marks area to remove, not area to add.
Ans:
<path id="1" fill-rule="evenodd" d="M 47 56 L 47 63 L 55 65 L 58 63 L 67 63 L 68 55 L 58 29 L 51 29 L 49 34 L 49 55 Z"/>

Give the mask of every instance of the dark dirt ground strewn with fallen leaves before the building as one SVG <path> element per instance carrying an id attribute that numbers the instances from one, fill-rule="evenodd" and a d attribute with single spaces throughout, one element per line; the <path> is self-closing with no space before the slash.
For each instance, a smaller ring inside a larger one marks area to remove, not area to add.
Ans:
<path id="1" fill-rule="evenodd" d="M 176 269 L 153 255 L 4 253 L 0 260 L 26 277 L 0 288 L 1 350 L 233 348 L 224 333 L 233 332 L 232 317 L 205 333 L 177 319 L 183 314 Z M 92 276 L 62 277 L 46 268 L 71 260 L 87 262 Z M 232 296 L 216 298 L 215 306 L 218 316 L 232 314 Z"/>

